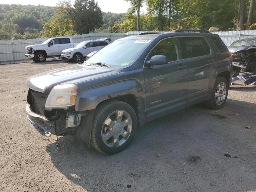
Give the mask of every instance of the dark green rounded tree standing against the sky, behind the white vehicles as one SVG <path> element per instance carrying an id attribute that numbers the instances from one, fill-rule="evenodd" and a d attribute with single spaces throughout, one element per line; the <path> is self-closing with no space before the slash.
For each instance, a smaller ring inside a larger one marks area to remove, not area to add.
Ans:
<path id="1" fill-rule="evenodd" d="M 75 0 L 72 19 L 79 34 L 89 33 L 103 24 L 102 12 L 94 0 Z"/>

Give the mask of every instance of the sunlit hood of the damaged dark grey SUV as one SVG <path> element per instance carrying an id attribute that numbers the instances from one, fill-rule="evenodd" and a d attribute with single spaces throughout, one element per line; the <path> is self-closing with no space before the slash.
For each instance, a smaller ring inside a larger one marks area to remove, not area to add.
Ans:
<path id="1" fill-rule="evenodd" d="M 120 73 L 121 69 L 102 66 L 74 65 L 36 74 L 26 80 L 26 85 L 35 91 L 49 94 L 58 84 L 74 81 L 88 81 L 103 76 Z"/>

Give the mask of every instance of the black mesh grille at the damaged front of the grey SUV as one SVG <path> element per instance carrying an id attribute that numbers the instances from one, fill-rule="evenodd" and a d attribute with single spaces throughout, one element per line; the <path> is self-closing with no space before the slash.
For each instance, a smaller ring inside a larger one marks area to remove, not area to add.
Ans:
<path id="1" fill-rule="evenodd" d="M 29 96 L 30 94 L 30 96 Z M 42 116 L 44 115 L 44 106 L 46 103 L 48 95 L 36 92 L 34 90 L 29 90 L 28 93 L 28 103 L 30 104 L 30 108 L 33 112 L 40 114 Z"/>

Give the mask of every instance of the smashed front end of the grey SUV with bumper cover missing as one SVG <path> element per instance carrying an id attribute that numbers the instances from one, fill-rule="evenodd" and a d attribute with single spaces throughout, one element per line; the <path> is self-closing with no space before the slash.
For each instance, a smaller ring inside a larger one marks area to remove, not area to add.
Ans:
<path id="1" fill-rule="evenodd" d="M 47 94 L 28 90 L 26 112 L 35 126 L 46 134 L 73 134 L 80 125 L 82 114 L 75 112 L 74 106 L 46 110 Z"/>

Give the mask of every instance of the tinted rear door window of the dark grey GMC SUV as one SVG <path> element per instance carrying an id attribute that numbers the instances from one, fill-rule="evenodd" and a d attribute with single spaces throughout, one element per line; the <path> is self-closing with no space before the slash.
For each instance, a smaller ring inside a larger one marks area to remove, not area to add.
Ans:
<path id="1" fill-rule="evenodd" d="M 180 41 L 183 59 L 210 54 L 210 46 L 203 37 L 182 37 Z"/>

